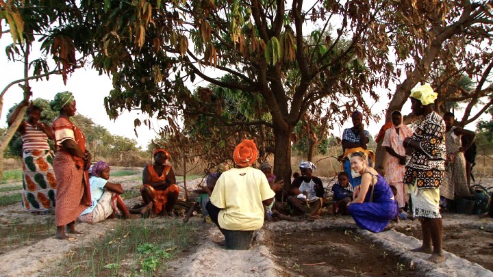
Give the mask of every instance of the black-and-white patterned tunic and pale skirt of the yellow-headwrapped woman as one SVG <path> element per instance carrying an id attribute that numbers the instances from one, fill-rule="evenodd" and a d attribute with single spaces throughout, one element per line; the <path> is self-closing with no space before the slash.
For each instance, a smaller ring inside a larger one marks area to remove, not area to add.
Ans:
<path id="1" fill-rule="evenodd" d="M 406 157 L 404 183 L 411 195 L 413 217 L 440 218 L 440 185 L 445 170 L 445 123 L 435 111 L 425 116 L 412 135 L 421 151 Z"/>

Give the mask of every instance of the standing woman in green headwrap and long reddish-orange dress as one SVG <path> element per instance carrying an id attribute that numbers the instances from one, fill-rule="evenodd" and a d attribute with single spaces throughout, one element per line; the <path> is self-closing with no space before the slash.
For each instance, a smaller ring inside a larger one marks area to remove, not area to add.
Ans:
<path id="1" fill-rule="evenodd" d="M 75 220 L 82 211 L 92 205 L 88 166 L 91 155 L 86 150 L 86 137 L 70 120 L 75 115 L 75 100 L 71 92 L 60 92 L 50 103 L 51 109 L 60 111 L 53 121 L 55 148 L 53 161 L 58 191 L 56 197 L 55 220 L 57 239 L 66 239 L 67 233 L 79 234 L 75 230 Z"/>

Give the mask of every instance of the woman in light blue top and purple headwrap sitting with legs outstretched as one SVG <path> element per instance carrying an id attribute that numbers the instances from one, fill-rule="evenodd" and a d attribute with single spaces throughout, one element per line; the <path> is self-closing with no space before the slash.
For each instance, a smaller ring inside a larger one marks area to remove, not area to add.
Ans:
<path id="1" fill-rule="evenodd" d="M 142 207 L 142 209 L 129 211 L 125 206 L 120 194 L 123 189 L 120 184 L 108 182 L 110 179 L 110 166 L 104 161 L 94 163 L 90 169 L 90 191 L 92 205 L 79 215 L 79 221 L 87 223 L 101 222 L 108 217 L 113 217 L 118 210 L 125 218 L 138 218 L 139 215 L 131 213 L 147 213 L 152 208 L 152 204 Z"/>

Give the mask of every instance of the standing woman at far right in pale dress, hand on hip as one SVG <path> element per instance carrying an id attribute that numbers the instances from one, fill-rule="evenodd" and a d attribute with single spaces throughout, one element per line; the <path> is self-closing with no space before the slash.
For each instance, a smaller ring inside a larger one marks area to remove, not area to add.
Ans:
<path id="1" fill-rule="evenodd" d="M 455 127 L 455 116 L 447 112 L 443 116 L 445 122 L 446 170 L 440 188 L 440 196 L 448 200 L 448 209 L 453 209 L 455 197 L 471 197 L 466 174 L 466 157 L 464 152 L 474 143 L 476 134 L 472 131 Z M 462 136 L 467 137 L 468 145 L 462 146 Z"/>

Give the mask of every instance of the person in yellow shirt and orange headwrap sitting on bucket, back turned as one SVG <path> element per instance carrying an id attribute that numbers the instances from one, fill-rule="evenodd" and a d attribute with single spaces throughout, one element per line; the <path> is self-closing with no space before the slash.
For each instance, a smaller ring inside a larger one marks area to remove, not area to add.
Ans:
<path id="1" fill-rule="evenodd" d="M 236 168 L 220 175 L 206 209 L 225 235 L 219 244 L 227 249 L 246 250 L 250 247 L 253 230 L 264 224 L 264 205 L 274 200 L 265 174 L 252 168 L 257 160 L 253 140 L 243 140 L 233 152 Z"/>

